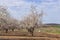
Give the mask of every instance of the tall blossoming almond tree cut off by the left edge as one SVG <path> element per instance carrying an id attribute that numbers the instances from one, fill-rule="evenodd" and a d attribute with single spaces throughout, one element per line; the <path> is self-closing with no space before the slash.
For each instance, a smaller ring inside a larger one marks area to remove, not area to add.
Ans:
<path id="1" fill-rule="evenodd" d="M 0 28 L 8 32 L 8 18 L 10 15 L 4 6 L 0 6 Z"/>

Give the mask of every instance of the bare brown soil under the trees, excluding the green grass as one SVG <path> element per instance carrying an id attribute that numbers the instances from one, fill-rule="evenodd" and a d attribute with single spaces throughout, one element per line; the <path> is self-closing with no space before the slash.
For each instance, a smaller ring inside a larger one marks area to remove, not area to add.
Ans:
<path id="1" fill-rule="evenodd" d="M 60 34 L 34 32 L 32 36 L 29 32 L 1 32 L 0 40 L 60 40 Z"/>

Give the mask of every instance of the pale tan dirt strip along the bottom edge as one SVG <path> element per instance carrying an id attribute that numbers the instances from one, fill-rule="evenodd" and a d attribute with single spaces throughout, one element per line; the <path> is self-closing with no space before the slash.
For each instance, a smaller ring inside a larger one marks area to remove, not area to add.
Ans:
<path id="1" fill-rule="evenodd" d="M 0 40 L 60 40 L 60 38 L 0 36 Z"/>

